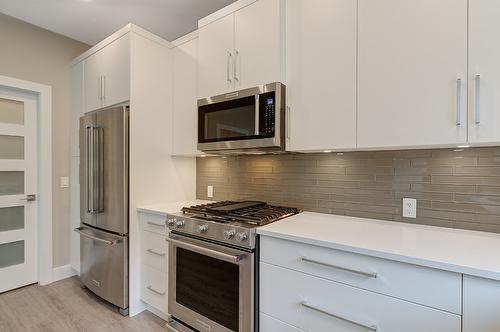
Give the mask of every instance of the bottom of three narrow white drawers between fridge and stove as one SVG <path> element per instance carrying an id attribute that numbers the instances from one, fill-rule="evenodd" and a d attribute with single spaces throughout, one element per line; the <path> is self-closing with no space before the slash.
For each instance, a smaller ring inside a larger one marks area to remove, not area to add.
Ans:
<path id="1" fill-rule="evenodd" d="M 142 265 L 141 299 L 152 307 L 168 314 L 167 275 Z"/>

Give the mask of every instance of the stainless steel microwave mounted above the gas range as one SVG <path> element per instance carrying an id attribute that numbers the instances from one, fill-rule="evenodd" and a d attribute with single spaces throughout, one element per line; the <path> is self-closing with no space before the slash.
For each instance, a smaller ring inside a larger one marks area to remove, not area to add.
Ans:
<path id="1" fill-rule="evenodd" d="M 198 100 L 198 150 L 284 151 L 285 86 L 271 83 Z"/>

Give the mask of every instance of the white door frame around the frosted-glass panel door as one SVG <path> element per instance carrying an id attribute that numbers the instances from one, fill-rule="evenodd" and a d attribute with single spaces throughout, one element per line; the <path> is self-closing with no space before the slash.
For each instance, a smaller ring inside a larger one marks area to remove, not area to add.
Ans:
<path id="1" fill-rule="evenodd" d="M 52 87 L 0 75 L 0 87 L 37 96 L 38 283 L 52 276 Z"/>

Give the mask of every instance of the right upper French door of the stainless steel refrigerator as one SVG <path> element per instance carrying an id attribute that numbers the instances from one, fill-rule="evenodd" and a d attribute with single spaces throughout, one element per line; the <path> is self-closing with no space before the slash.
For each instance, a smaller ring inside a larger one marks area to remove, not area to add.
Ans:
<path id="1" fill-rule="evenodd" d="M 98 177 L 96 195 L 102 197 L 96 213 L 100 229 L 128 233 L 128 112 L 123 106 L 96 112 L 94 146 Z M 101 205 L 102 204 L 102 205 Z"/>

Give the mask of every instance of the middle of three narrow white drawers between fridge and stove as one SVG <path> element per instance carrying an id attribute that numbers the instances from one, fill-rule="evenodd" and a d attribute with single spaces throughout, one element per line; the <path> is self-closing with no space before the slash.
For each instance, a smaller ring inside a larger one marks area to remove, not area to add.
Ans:
<path id="1" fill-rule="evenodd" d="M 148 231 L 141 232 L 142 263 L 160 272 L 167 272 L 168 256 L 165 235 Z"/>

